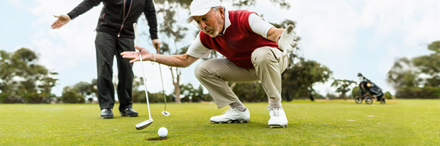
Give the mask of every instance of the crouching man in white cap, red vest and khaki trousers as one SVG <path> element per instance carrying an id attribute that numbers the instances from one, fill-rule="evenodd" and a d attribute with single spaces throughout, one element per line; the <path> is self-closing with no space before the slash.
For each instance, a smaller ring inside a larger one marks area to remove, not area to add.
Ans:
<path id="1" fill-rule="evenodd" d="M 225 81 L 259 80 L 269 98 L 269 128 L 285 128 L 287 118 L 281 106 L 281 73 L 289 64 L 287 53 L 293 51 L 301 38 L 295 35 L 292 25 L 286 30 L 277 29 L 254 12 L 225 11 L 221 5 L 219 0 L 192 1 L 187 22 L 195 20 L 201 31 L 184 55 L 155 55 L 144 48 L 135 48 L 141 52 L 142 60 L 175 67 L 187 67 L 216 50 L 226 58 L 199 63 L 195 75 L 218 108 L 226 105 L 231 108 L 222 115 L 211 117 L 210 121 L 220 124 L 248 122 L 249 110 Z M 130 62 L 139 61 L 137 52 L 121 55 L 132 59 Z"/>

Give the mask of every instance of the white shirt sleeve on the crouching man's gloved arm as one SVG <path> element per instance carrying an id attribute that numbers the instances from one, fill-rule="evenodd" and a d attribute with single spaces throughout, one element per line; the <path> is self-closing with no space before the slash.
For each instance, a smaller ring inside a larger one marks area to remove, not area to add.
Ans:
<path id="1" fill-rule="evenodd" d="M 263 36 L 264 38 L 267 38 L 267 32 L 269 29 L 274 27 L 272 24 L 264 21 L 263 18 L 255 13 L 249 15 L 249 26 L 251 27 L 252 31 Z"/>

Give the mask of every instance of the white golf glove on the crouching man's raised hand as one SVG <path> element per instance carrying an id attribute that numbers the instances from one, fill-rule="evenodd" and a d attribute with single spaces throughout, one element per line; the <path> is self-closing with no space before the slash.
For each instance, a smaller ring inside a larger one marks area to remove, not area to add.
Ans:
<path id="1" fill-rule="evenodd" d="M 283 50 L 284 55 L 288 55 L 293 52 L 295 47 L 298 45 L 298 41 L 301 40 L 301 37 L 296 35 L 295 31 L 293 31 L 293 25 L 287 26 L 287 28 L 281 34 L 280 39 L 278 40 L 278 47 Z"/>

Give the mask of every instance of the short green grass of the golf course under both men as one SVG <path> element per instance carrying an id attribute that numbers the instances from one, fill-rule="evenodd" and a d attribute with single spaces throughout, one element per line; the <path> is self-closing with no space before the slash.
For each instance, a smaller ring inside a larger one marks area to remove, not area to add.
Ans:
<path id="1" fill-rule="evenodd" d="M 316 146 L 439 146 L 440 100 L 389 100 L 386 105 L 357 105 L 353 100 L 296 100 L 284 102 L 287 128 L 268 128 L 267 103 L 245 103 L 250 123 L 211 124 L 209 118 L 228 107 L 214 103 L 152 104 L 154 122 L 136 130 L 148 119 L 147 105 L 134 104 L 138 117 L 100 119 L 97 104 L 0 104 L 0 146 L 22 145 L 316 145 Z M 168 128 L 167 140 L 158 137 Z"/>

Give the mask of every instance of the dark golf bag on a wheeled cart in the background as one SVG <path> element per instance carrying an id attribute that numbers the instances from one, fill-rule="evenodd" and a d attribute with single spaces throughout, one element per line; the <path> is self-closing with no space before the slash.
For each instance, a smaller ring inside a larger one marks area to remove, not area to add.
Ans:
<path id="1" fill-rule="evenodd" d="M 354 98 L 354 101 L 357 104 L 361 104 L 362 100 L 365 100 L 366 104 L 373 104 L 373 100 L 377 99 L 377 101 L 380 101 L 380 104 L 385 104 L 385 98 L 382 98 L 383 92 L 382 89 L 380 89 L 379 86 L 374 84 L 372 81 L 364 77 L 361 73 L 358 73 L 357 76 L 359 77 L 360 83 L 359 83 L 359 96 L 356 96 Z"/>

